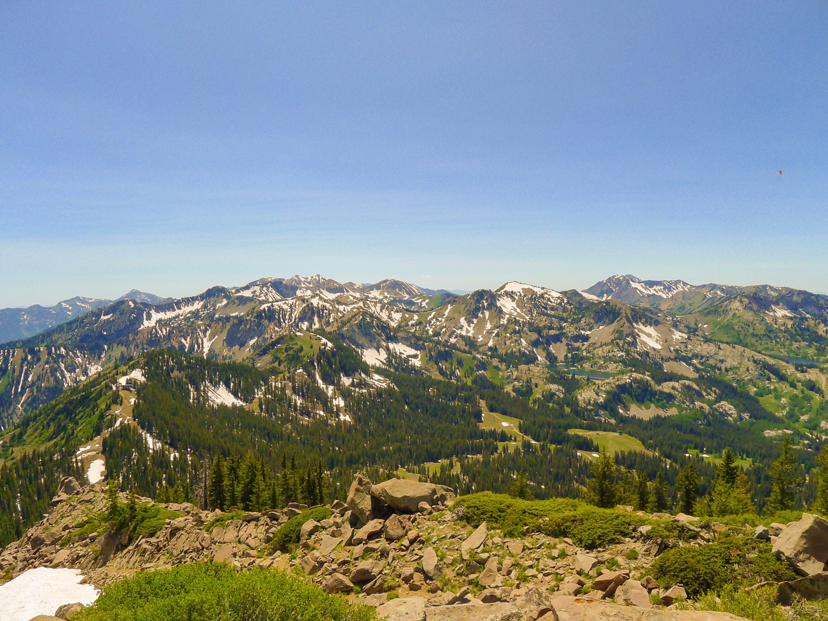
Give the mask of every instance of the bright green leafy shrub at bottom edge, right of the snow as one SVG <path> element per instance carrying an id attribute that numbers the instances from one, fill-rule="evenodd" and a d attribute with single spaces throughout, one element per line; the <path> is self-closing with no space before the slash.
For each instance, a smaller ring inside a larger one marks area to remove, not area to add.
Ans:
<path id="1" fill-rule="evenodd" d="M 191 563 L 142 572 L 103 590 L 75 621 L 370 621 L 376 612 L 277 570 Z"/>

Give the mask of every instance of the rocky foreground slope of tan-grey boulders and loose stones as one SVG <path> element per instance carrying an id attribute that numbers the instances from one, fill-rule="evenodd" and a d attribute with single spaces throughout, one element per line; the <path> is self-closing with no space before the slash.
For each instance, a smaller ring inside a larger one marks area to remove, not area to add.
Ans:
<path id="1" fill-rule="evenodd" d="M 274 534 L 305 506 L 243 513 L 223 522 L 226 514 L 219 511 L 166 504 L 181 517 L 133 540 L 89 532 L 94 523 L 89 517 L 105 511 L 103 487 L 81 489 L 75 479 L 65 479 L 51 513 L 0 553 L 0 583 L 46 566 L 83 570 L 87 581 L 103 587 L 139 570 L 215 561 L 301 572 L 322 589 L 377 606 L 381 617 L 399 621 L 739 619 L 676 609 L 685 590 L 681 585 L 660 590 L 647 575 L 661 545 L 642 533 L 594 551 L 566 538 L 503 537 L 486 523 L 466 525 L 463 508 L 451 510 L 454 501 L 452 490 L 443 486 L 404 479 L 374 485 L 357 476 L 347 503 L 337 501 L 330 518 L 302 525 L 296 551 L 270 553 Z M 694 517 L 672 519 L 695 529 L 702 543 L 715 538 L 715 524 L 705 529 Z M 780 601 L 793 594 L 828 596 L 828 522 L 806 515 L 790 525 L 758 527 L 755 536 L 773 538 L 777 556 L 803 576 L 777 585 Z"/>

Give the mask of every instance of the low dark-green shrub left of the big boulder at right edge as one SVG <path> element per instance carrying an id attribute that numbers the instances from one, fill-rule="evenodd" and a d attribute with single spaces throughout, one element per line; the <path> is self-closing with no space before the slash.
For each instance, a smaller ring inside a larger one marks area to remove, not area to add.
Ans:
<path id="1" fill-rule="evenodd" d="M 771 545 L 749 536 L 726 536 L 704 546 L 682 546 L 664 551 L 653 561 L 653 577 L 662 586 L 684 585 L 698 598 L 718 594 L 726 585 L 737 588 L 763 580 L 796 580 L 787 563 L 773 556 Z"/>

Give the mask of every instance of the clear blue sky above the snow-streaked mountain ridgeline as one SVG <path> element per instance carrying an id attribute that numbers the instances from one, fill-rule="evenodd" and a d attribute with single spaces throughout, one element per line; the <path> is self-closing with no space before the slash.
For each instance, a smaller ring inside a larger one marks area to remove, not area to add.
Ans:
<path id="1" fill-rule="evenodd" d="M 828 292 L 828 3 L 0 2 L 0 306 L 315 272 Z"/>

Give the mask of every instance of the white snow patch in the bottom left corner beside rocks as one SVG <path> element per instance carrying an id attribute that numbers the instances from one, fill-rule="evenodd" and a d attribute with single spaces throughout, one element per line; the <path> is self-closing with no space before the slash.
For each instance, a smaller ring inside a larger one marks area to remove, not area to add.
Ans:
<path id="1" fill-rule="evenodd" d="M 93 585 L 79 585 L 81 570 L 36 567 L 0 586 L 3 621 L 29 621 L 38 614 L 55 614 L 63 604 L 94 604 L 100 593 Z"/>

